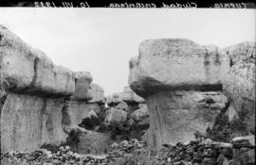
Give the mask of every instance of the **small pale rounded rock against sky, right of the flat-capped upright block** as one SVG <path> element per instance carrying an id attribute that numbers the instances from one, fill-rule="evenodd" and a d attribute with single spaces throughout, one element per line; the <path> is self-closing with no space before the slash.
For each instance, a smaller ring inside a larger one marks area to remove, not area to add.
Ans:
<path id="1" fill-rule="evenodd" d="M 104 103 L 104 90 L 100 85 L 91 83 L 90 92 L 92 93 L 92 99 L 88 101 L 88 103 Z"/>

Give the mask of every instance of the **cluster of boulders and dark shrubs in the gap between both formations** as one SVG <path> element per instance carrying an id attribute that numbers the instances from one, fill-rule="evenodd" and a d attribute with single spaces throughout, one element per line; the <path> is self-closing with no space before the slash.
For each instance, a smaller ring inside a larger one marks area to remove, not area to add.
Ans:
<path id="1" fill-rule="evenodd" d="M 107 122 L 104 125 L 111 131 L 112 137 L 116 140 L 135 138 L 141 140 L 149 128 L 148 108 L 144 98 L 138 96 L 129 87 L 124 87 L 123 91 L 107 96 L 106 104 L 108 110 L 105 122 L 113 121 L 114 124 Z"/>

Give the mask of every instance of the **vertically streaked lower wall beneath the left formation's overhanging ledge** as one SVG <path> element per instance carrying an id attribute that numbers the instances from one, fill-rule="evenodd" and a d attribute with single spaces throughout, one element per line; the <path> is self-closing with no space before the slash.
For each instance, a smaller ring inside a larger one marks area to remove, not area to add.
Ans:
<path id="1" fill-rule="evenodd" d="M 1 112 L 1 150 L 31 151 L 65 140 L 63 100 L 9 93 Z"/>

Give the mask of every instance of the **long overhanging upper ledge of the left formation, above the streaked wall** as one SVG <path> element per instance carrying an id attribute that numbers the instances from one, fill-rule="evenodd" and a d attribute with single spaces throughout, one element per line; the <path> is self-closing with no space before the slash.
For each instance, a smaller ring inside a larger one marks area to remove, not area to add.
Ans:
<path id="1" fill-rule="evenodd" d="M 0 26 L 0 74 L 9 91 L 68 96 L 75 91 L 73 72 L 52 63 L 46 55 Z"/>

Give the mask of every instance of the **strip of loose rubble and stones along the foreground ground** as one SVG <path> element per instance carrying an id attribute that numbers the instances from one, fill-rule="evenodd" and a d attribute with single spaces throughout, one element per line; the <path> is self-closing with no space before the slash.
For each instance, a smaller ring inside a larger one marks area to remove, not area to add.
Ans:
<path id="1" fill-rule="evenodd" d="M 114 142 L 106 155 L 80 155 L 62 146 L 57 151 L 46 149 L 31 153 L 1 154 L 2 164 L 23 165 L 254 165 L 255 137 L 237 137 L 230 142 L 197 138 L 188 144 L 163 144 L 158 153 L 147 149 L 142 140 Z M 11 163 L 10 163 L 11 162 Z"/>

